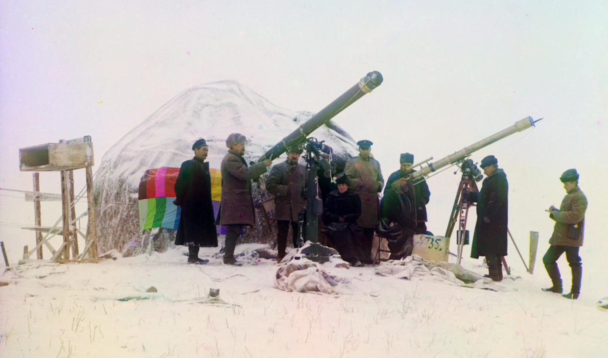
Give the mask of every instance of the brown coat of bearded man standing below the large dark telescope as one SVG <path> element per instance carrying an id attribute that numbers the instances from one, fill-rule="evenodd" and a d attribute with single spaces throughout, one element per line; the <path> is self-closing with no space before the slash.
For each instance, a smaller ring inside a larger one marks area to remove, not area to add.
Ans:
<path id="1" fill-rule="evenodd" d="M 275 196 L 274 218 L 298 221 L 298 213 L 306 207 L 306 167 L 289 164 L 274 165 L 266 179 L 266 190 Z"/>

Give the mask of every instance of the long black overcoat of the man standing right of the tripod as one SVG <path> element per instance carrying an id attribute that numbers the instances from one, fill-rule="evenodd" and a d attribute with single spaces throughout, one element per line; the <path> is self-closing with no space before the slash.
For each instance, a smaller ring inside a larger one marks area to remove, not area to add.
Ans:
<path id="1" fill-rule="evenodd" d="M 501 168 L 483 179 L 477 196 L 477 222 L 471 244 L 471 257 L 497 254 L 506 256 L 509 183 Z M 475 199 L 475 198 L 471 198 Z M 483 221 L 488 218 L 489 223 Z"/>

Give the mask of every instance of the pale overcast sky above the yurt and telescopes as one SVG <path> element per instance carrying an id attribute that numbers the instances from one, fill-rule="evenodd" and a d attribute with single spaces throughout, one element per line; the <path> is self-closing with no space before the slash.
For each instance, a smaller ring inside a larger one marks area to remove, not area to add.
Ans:
<path id="1" fill-rule="evenodd" d="M 334 120 L 376 143 L 385 176 L 399 153 L 437 160 L 544 117 L 473 159 L 499 157 L 512 198 L 547 196 L 533 199 L 530 219 L 549 231 L 542 208 L 559 204 L 556 178 L 575 167 L 602 221 L 606 19 L 605 1 L 3 1 L 0 187 L 31 188 L 18 148 L 91 135 L 100 164 L 198 84 L 236 80 L 275 105 L 316 112 L 379 71 L 384 83 Z M 431 179 L 435 198 L 457 185 L 441 175 Z"/>

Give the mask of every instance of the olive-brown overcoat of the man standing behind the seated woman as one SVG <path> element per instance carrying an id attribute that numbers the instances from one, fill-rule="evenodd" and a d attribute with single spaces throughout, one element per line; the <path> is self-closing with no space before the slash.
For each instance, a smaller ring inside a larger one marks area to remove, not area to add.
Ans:
<path id="1" fill-rule="evenodd" d="M 384 186 L 384 178 L 378 160 L 361 156 L 349 159 L 344 167 L 348 188 L 361 198 L 361 216 L 357 224 L 364 228 L 375 228 L 380 217 L 378 193 Z"/>

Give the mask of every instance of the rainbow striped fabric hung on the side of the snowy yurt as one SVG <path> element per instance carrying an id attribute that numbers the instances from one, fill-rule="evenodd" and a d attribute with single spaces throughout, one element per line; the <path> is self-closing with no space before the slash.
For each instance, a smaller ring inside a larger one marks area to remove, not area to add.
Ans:
<path id="1" fill-rule="evenodd" d="M 211 175 L 211 198 L 213 216 L 217 217 L 221 198 L 221 173 L 209 169 Z M 175 180 L 179 168 L 161 167 L 148 169 L 139 180 L 139 230 L 165 227 L 178 229 L 181 208 L 175 200 Z M 216 226 L 218 234 L 226 234 L 226 227 Z"/>

